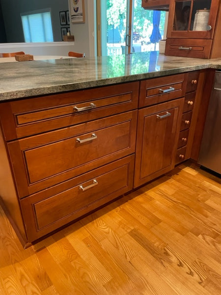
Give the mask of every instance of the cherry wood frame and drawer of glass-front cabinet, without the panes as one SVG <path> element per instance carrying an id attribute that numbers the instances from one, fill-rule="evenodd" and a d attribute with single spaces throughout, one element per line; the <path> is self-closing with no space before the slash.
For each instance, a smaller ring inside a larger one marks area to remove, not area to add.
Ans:
<path id="1" fill-rule="evenodd" d="M 221 52 L 218 49 L 221 47 L 221 1 L 211 0 L 208 19 L 210 29 L 205 30 L 194 30 L 190 27 L 185 30 L 175 28 L 174 21 L 177 20 L 175 6 L 176 3 L 181 2 L 175 0 L 169 2 L 165 55 L 202 59 L 221 57 Z M 193 0 L 191 2 L 193 5 Z M 192 5 L 190 14 L 192 14 Z M 190 24 L 191 20 L 189 26 Z"/>

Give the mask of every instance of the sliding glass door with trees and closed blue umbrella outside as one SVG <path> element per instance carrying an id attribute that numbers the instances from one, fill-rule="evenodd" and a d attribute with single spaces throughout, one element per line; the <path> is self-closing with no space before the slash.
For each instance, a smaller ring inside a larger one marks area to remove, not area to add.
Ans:
<path id="1" fill-rule="evenodd" d="M 98 55 L 158 50 L 165 20 L 165 11 L 145 10 L 141 0 L 97 0 Z"/>

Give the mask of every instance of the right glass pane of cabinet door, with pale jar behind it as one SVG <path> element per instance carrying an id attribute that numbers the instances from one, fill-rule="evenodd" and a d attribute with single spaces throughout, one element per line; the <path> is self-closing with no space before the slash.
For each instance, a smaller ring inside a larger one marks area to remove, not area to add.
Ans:
<path id="1" fill-rule="evenodd" d="M 191 30 L 205 31 L 208 26 L 211 0 L 194 0 Z"/>

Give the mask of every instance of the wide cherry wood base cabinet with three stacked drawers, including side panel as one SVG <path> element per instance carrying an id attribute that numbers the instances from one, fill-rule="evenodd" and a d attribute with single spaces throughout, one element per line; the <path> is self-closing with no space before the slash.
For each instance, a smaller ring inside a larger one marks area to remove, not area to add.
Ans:
<path id="1" fill-rule="evenodd" d="M 139 82 L 0 103 L 1 203 L 24 245 L 133 189 Z"/>

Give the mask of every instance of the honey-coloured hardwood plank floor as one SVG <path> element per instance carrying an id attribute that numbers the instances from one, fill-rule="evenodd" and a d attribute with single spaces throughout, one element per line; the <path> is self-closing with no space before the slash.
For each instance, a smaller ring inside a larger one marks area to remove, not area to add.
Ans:
<path id="1" fill-rule="evenodd" d="M 221 294 L 221 182 L 191 163 L 23 249 L 0 208 L 0 295 Z"/>

